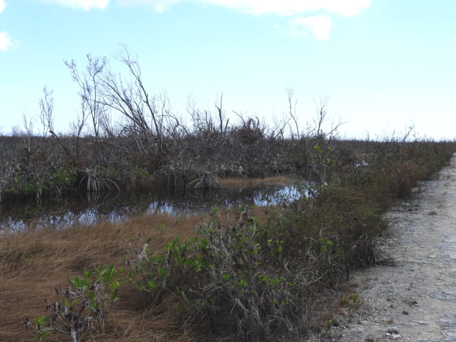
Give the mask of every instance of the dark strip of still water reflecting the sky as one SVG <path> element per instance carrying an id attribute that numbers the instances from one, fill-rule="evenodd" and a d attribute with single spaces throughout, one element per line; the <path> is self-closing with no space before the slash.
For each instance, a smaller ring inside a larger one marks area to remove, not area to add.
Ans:
<path id="1" fill-rule="evenodd" d="M 255 206 L 277 205 L 298 197 L 298 189 L 289 185 L 185 194 L 135 193 L 117 197 L 106 195 L 95 201 L 66 198 L 3 203 L 0 205 L 0 232 L 23 231 L 29 227 L 41 229 L 51 226 L 62 229 L 77 223 L 93 225 L 103 221 L 117 222 L 136 214 L 195 215 L 209 211 L 212 206 L 226 208 L 241 203 Z"/>

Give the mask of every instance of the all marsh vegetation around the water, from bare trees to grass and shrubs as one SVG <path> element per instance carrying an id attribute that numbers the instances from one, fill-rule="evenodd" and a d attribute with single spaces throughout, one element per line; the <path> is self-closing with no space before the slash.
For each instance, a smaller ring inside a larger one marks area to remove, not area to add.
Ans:
<path id="1" fill-rule="evenodd" d="M 128 51 L 118 60 L 129 82 L 103 58 L 88 56 L 84 73 L 68 62 L 82 102 L 69 134 L 54 132 L 45 90 L 43 135 L 27 124 L 0 137 L 3 202 L 218 189 L 270 176 L 291 178 L 299 196 L 197 216 L 5 231 L 2 340 L 263 341 L 324 328 L 313 315 L 321 292 L 337 289 L 353 268 L 384 261 L 375 243 L 387 227 L 382 214 L 456 150 L 408 135 L 337 139 L 337 125 L 323 129 L 325 100 L 301 129 L 291 92 L 289 119 L 273 127 L 242 115 L 230 123 L 222 97 L 214 115 L 189 103 L 185 126 L 166 96 L 148 95 Z"/>

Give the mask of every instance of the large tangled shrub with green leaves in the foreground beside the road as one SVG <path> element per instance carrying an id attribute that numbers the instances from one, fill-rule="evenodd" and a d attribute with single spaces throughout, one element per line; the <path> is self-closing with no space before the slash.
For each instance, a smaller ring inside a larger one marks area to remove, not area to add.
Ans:
<path id="1" fill-rule="evenodd" d="M 318 280 L 314 266 L 332 253 L 330 241 L 309 258 L 291 259 L 284 241 L 272 237 L 267 225 L 240 207 L 232 220 L 221 223 L 221 212 L 186 241 L 169 241 L 165 253 L 147 249 L 150 240 L 130 242 L 130 279 L 144 293 L 146 306 L 157 305 L 173 294 L 181 301 L 186 319 L 214 327 L 220 317 L 230 318 L 226 328 L 237 329 L 251 340 L 264 340 L 286 326 L 300 331 L 310 287 Z M 297 244 L 295 245 L 297 247 Z"/>

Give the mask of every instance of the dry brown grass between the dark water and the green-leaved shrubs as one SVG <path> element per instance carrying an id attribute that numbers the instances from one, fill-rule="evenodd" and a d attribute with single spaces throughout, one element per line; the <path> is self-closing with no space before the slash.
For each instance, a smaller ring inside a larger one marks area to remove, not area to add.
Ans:
<path id="1" fill-rule="evenodd" d="M 264 220 L 264 208 L 255 208 L 254 212 Z M 59 299 L 54 287 L 65 288 L 67 278 L 80 274 L 83 269 L 112 262 L 118 269 L 123 258 L 128 256 L 124 237 L 144 234 L 153 238 L 150 250 L 162 251 L 167 240 L 178 235 L 182 238 L 192 236 L 194 225 L 206 219 L 208 216 L 204 215 L 138 216 L 121 223 L 1 236 L 0 341 L 34 340 L 30 331 L 25 329 L 24 319 L 33 320 L 36 315 L 45 315 L 45 298 L 51 302 Z M 162 224 L 166 227 L 163 232 L 155 229 Z M 179 318 L 177 302 L 172 298 L 167 298 L 152 311 L 144 311 L 136 287 L 126 284 L 119 296 L 121 300 L 115 303 L 112 314 L 107 315 L 104 331 L 97 331 L 86 340 L 201 340 L 198 332 Z"/>

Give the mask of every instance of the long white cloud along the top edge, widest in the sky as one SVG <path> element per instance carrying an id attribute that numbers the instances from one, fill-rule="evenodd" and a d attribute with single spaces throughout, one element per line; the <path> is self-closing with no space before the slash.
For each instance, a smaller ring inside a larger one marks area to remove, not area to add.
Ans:
<path id="1" fill-rule="evenodd" d="M 118 0 L 125 6 L 148 5 L 156 9 L 166 9 L 182 1 L 191 0 Z M 326 11 L 329 13 L 354 16 L 367 8 L 371 0 L 193 0 L 204 5 L 212 4 L 233 8 L 242 12 L 260 14 L 278 14 L 294 16 L 308 12 Z"/>

